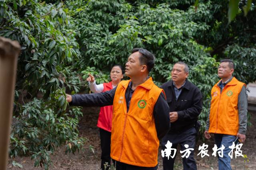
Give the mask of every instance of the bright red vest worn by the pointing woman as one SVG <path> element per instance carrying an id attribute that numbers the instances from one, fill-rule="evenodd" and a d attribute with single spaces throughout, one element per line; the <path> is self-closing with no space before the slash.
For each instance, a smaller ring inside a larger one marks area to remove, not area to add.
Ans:
<path id="1" fill-rule="evenodd" d="M 103 86 L 104 86 L 103 92 L 113 89 L 112 82 L 103 83 Z M 111 132 L 112 113 L 113 113 L 113 106 L 100 107 L 100 114 L 99 114 L 97 126 L 101 129 Z"/>

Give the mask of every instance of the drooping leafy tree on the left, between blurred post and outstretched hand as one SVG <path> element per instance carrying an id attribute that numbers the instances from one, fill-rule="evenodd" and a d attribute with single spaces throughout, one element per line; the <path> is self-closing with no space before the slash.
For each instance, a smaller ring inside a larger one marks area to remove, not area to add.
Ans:
<path id="1" fill-rule="evenodd" d="M 80 56 L 79 46 L 69 31 L 72 23 L 64 4 L 33 0 L 4 0 L 0 4 L 0 35 L 22 45 L 10 157 L 32 155 L 35 166 L 47 169 L 50 154 L 57 147 L 66 145 L 67 152 L 75 152 L 85 141 L 77 129 L 81 109 L 66 112 L 64 79 L 60 76 Z"/>

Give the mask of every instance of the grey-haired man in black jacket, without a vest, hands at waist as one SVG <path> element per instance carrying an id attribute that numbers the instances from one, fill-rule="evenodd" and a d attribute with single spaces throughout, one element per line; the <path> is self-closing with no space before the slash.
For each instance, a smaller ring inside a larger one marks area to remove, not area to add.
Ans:
<path id="1" fill-rule="evenodd" d="M 181 150 L 190 149 L 196 145 L 196 125 L 198 115 L 202 111 L 202 94 L 200 90 L 187 80 L 189 68 L 184 62 L 174 64 L 172 68 L 172 80 L 164 83 L 166 99 L 170 108 L 170 131 L 163 137 L 161 146 L 165 149 L 167 141 L 172 143 L 172 148 Z M 185 147 L 188 145 L 189 147 Z M 190 150 L 191 151 L 191 150 Z M 184 153 L 183 153 L 184 154 Z M 171 154 L 172 155 L 172 154 Z M 163 157 L 164 170 L 173 170 L 174 158 Z M 194 150 L 188 158 L 182 158 L 184 170 L 196 170 Z"/>

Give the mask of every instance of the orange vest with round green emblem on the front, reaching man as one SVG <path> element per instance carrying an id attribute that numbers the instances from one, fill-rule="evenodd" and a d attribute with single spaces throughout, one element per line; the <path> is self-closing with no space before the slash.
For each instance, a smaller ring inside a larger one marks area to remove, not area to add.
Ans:
<path id="1" fill-rule="evenodd" d="M 157 165 L 159 141 L 154 122 L 154 105 L 161 92 L 152 78 L 135 90 L 127 112 L 125 92 L 131 80 L 121 81 L 113 101 L 111 158 L 126 164 Z"/>

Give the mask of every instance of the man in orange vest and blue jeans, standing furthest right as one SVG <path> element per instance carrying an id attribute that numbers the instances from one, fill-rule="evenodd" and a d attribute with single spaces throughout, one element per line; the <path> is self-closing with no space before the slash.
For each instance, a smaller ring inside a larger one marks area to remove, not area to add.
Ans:
<path id="1" fill-rule="evenodd" d="M 246 85 L 232 76 L 234 63 L 225 59 L 220 61 L 218 76 L 222 78 L 212 87 L 211 107 L 204 137 L 210 139 L 214 133 L 214 140 L 218 148 L 224 145 L 223 157 L 218 157 L 219 170 L 231 170 L 229 146 L 239 137 L 241 143 L 245 141 L 247 124 L 247 96 Z"/>

